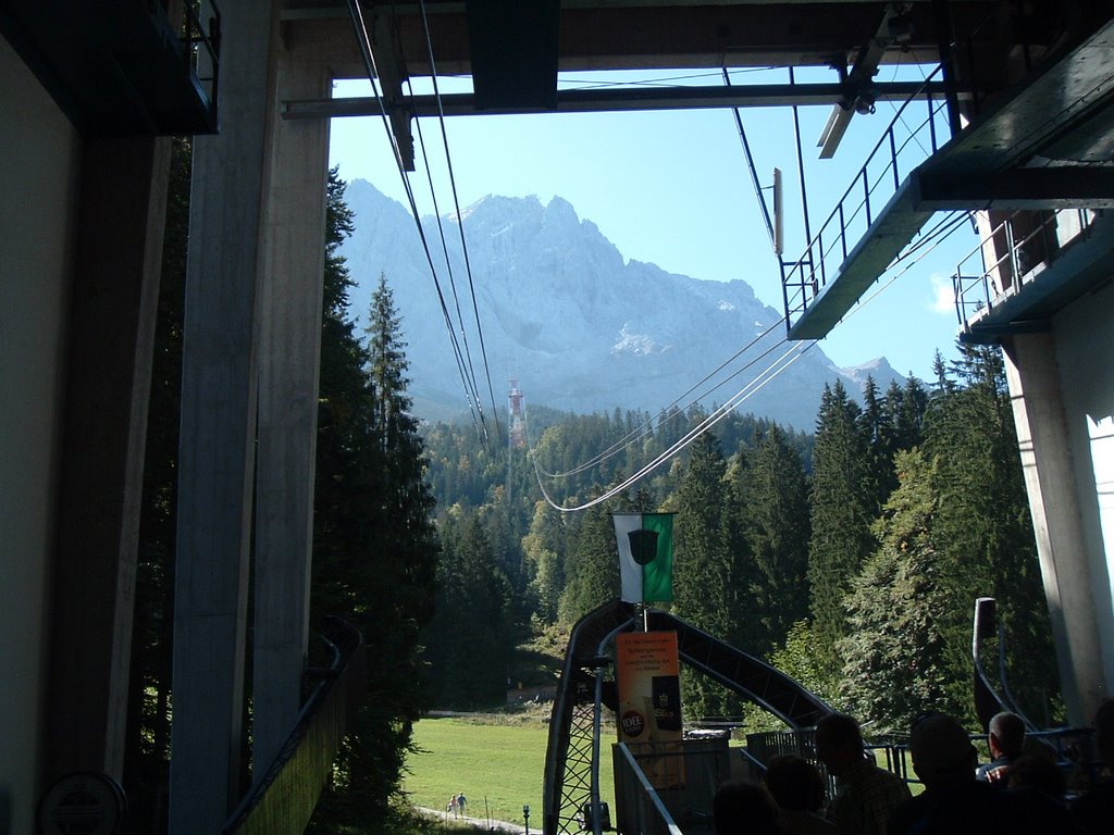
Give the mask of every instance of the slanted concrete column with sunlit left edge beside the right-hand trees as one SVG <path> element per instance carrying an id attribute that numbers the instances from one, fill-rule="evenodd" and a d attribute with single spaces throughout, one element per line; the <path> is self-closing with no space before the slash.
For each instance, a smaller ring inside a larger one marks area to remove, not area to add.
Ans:
<path id="1" fill-rule="evenodd" d="M 1073 459 L 1053 335 L 1017 335 L 1004 347 L 1068 721 L 1087 725 L 1106 681 L 1075 472 L 1085 462 Z"/>

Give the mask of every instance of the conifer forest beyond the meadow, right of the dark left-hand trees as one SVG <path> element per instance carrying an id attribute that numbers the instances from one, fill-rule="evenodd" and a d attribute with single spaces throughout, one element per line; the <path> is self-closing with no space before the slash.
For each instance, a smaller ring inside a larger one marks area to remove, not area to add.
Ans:
<path id="1" fill-rule="evenodd" d="M 950 364 L 938 355 L 929 383 L 881 391 L 868 380 L 854 396 L 828 385 L 810 435 L 732 414 L 633 489 L 578 512 L 554 505 L 612 492 L 706 412 L 575 415 L 528 404 L 527 415 L 529 449 L 506 436 L 483 443 L 463 424 L 423 429 L 447 532 L 439 571 L 458 596 L 440 587 L 428 637 L 436 700 L 494 701 L 505 679 L 532 672 L 516 669 L 517 645 L 617 597 L 609 513 L 633 510 L 676 514 L 676 615 L 874 729 L 901 730 L 927 706 L 975 727 L 978 597 L 998 600 L 1015 697 L 1037 721 L 1061 717 L 997 348 L 961 345 Z M 498 615 L 472 618 L 471 595 L 488 596 L 477 611 Z M 481 662 L 439 670 L 450 645 L 452 658 L 482 651 Z M 690 718 L 747 710 L 695 674 L 683 688 Z"/>

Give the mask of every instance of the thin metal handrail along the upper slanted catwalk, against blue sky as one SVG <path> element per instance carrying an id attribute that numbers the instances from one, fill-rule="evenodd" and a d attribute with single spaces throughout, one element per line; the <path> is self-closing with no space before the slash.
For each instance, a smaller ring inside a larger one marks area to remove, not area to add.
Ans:
<path id="1" fill-rule="evenodd" d="M 877 207 L 881 202 L 881 197 L 879 195 L 882 191 L 882 186 L 892 181 L 892 190 L 885 193 L 885 198 L 889 199 L 889 197 L 900 189 L 902 176 L 908 176 L 910 171 L 920 165 L 920 163 L 925 161 L 925 159 L 939 149 L 940 141 L 937 136 L 938 129 L 936 120 L 940 116 L 941 111 L 947 107 L 947 101 L 946 99 L 934 99 L 928 90 L 930 82 L 937 73 L 940 72 L 942 72 L 942 67 L 937 67 L 931 75 L 925 79 L 919 90 L 910 96 L 901 105 L 901 107 L 898 108 L 898 111 L 892 121 L 890 121 L 889 127 L 887 127 L 886 131 L 868 155 L 867 161 L 848 186 L 843 196 L 837 203 L 836 208 L 832 209 L 831 214 L 821 225 L 820 230 L 812 237 L 811 240 L 809 240 L 808 246 L 804 247 L 801 258 L 797 263 L 790 265 L 790 269 L 785 275 L 784 282 L 786 295 L 786 326 L 792 325 L 793 314 L 803 313 L 808 308 L 811 301 L 819 295 L 820 291 L 824 286 L 827 286 L 829 255 L 838 253 L 840 256 L 839 263 L 833 265 L 833 272 L 838 269 L 839 264 L 842 264 L 842 262 L 847 259 L 848 252 L 851 248 L 848 245 L 849 227 L 854 222 L 861 222 L 864 219 L 866 225 L 862 229 L 862 234 L 864 235 L 870 228 L 874 217 L 877 216 L 874 207 Z M 905 111 L 915 99 L 920 97 L 924 97 L 928 102 L 928 116 L 919 125 L 910 129 L 909 126 L 905 124 Z M 899 122 L 905 126 L 909 134 L 908 137 L 901 141 L 900 146 L 898 145 L 897 134 L 895 130 Z M 899 166 L 899 158 L 902 157 L 902 154 L 911 143 L 917 143 L 918 147 L 922 150 L 925 149 L 924 146 L 920 145 L 920 139 L 925 138 L 926 128 L 928 129 L 927 139 L 930 150 L 926 151 L 924 157 L 919 157 L 915 165 L 908 166 L 908 170 L 902 171 L 901 166 Z M 883 148 L 887 154 L 879 157 L 879 153 Z M 885 160 L 885 165 L 871 181 L 870 169 L 871 165 L 876 163 L 877 159 Z M 874 200 L 873 206 L 871 204 L 872 198 Z M 813 257 L 814 254 L 818 257 Z M 797 276 L 795 281 L 794 276 Z M 792 294 L 790 294 L 791 287 L 795 288 Z"/>

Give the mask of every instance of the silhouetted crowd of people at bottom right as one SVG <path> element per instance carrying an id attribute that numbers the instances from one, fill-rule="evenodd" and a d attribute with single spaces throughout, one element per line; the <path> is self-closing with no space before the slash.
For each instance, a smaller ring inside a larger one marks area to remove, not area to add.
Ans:
<path id="1" fill-rule="evenodd" d="M 912 770 L 924 784 L 913 796 L 906 780 L 876 765 L 854 718 L 831 714 L 815 729 L 817 759 L 834 778 L 830 799 L 817 766 L 780 755 L 761 784 L 720 787 L 715 835 L 1114 835 L 1114 699 L 1103 701 L 1094 728 L 1104 770 L 1085 793 L 1069 797 L 1056 762 L 1026 752 L 1017 715 L 990 720 L 990 762 L 979 765 L 958 721 L 922 714 L 909 728 Z"/>

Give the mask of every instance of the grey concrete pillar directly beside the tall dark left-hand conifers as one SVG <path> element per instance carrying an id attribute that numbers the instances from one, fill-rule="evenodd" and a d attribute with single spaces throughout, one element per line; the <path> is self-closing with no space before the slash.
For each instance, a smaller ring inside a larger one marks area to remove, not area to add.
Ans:
<path id="1" fill-rule="evenodd" d="M 329 98 L 326 52 L 286 28 L 276 99 Z M 252 760 L 258 779 L 302 703 L 313 543 L 329 121 L 274 125 L 263 235 Z"/>

